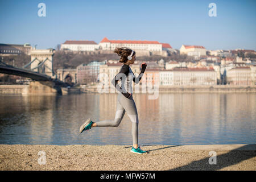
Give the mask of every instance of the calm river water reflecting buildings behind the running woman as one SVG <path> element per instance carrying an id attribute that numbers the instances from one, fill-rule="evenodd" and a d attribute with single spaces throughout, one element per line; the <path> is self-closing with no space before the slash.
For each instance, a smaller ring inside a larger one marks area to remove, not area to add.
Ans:
<path id="1" fill-rule="evenodd" d="M 256 93 L 134 94 L 139 144 L 256 143 Z M 0 96 L 0 144 L 132 144 L 125 114 L 118 127 L 79 133 L 87 119 L 113 119 L 117 94 Z"/>

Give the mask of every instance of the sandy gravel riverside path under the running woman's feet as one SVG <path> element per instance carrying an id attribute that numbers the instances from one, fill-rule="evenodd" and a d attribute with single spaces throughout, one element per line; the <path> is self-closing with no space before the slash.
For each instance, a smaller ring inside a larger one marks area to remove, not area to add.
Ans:
<path id="1" fill-rule="evenodd" d="M 130 149 L 118 145 L 0 144 L 0 170 L 256 170 L 256 144 L 142 146 L 147 151 L 143 155 Z"/>

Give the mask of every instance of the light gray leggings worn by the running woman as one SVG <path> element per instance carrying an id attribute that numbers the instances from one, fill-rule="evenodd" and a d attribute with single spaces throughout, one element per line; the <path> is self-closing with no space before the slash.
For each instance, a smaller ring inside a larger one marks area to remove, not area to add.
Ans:
<path id="1" fill-rule="evenodd" d="M 138 113 L 135 102 L 133 100 L 133 95 L 129 98 L 123 96 L 123 94 L 119 93 L 117 97 L 117 111 L 115 112 L 114 120 L 104 120 L 96 122 L 97 127 L 104 127 L 104 126 L 112 126 L 117 127 L 121 123 L 123 119 L 123 115 L 125 115 L 125 111 L 127 115 L 131 119 L 132 126 L 131 126 L 131 135 L 133 136 L 133 144 L 138 144 Z"/>

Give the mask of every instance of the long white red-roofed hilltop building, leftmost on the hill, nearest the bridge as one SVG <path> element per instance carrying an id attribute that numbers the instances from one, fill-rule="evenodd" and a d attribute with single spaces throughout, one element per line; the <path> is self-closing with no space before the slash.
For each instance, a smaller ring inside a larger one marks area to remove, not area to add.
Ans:
<path id="1" fill-rule="evenodd" d="M 67 40 L 60 46 L 61 50 L 69 51 L 95 51 L 98 44 L 90 40 Z"/>

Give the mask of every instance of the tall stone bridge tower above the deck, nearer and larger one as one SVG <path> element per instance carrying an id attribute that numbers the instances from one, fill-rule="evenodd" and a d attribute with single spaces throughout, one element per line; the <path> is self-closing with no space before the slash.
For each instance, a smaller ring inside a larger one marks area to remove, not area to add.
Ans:
<path id="1" fill-rule="evenodd" d="M 32 71 L 44 73 L 48 76 L 55 76 L 53 71 L 53 55 L 54 49 L 33 49 L 31 50 L 31 64 Z"/>

